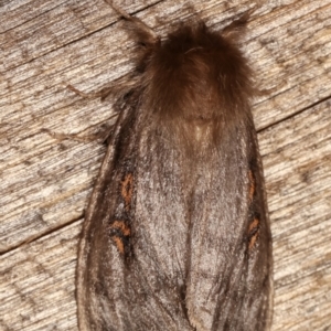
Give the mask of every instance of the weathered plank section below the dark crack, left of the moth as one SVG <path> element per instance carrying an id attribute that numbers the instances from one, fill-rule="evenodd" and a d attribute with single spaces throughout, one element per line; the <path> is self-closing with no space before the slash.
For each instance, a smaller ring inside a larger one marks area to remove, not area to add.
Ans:
<path id="1" fill-rule="evenodd" d="M 0 330 L 77 330 L 74 275 L 81 224 L 0 257 Z"/>

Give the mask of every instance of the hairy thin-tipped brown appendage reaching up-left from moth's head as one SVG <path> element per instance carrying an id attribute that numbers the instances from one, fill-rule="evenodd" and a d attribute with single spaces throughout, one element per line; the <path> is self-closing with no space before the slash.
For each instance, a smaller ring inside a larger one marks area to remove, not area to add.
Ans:
<path id="1" fill-rule="evenodd" d="M 128 23 L 130 23 L 130 25 L 127 25 L 126 28 L 135 36 L 138 43 L 147 46 L 153 45 L 159 41 L 157 33 L 141 20 L 131 17 L 125 10 L 114 4 L 110 0 L 105 0 L 105 2 L 108 3 Z"/>

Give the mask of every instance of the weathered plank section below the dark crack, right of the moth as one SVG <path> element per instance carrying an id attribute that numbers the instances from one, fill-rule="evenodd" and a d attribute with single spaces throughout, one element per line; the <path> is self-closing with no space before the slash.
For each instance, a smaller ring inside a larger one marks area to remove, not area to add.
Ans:
<path id="1" fill-rule="evenodd" d="M 259 136 L 273 221 L 273 330 L 328 330 L 331 313 L 331 102 Z"/>

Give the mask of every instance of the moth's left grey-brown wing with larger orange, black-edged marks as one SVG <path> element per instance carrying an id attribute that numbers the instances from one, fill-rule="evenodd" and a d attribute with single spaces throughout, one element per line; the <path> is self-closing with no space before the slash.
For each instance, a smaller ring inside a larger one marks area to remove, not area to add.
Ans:
<path id="1" fill-rule="evenodd" d="M 79 329 L 193 331 L 177 154 L 138 110 L 120 114 L 84 223 Z"/>

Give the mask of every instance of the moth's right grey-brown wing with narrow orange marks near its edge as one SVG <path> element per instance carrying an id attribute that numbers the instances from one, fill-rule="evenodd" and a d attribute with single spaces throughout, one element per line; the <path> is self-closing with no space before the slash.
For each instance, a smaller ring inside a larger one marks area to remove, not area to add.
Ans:
<path id="1" fill-rule="evenodd" d="M 196 330 L 266 330 L 271 237 L 253 121 L 228 128 L 192 201 L 186 302 Z"/>

